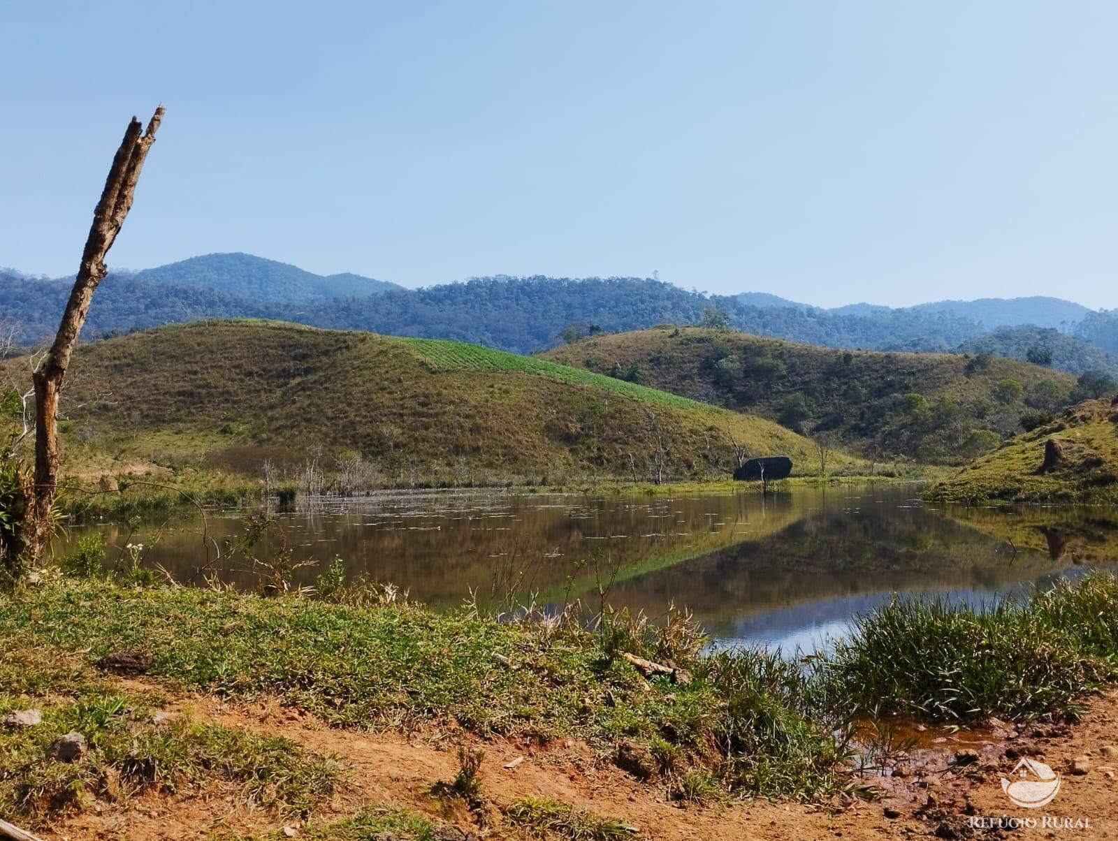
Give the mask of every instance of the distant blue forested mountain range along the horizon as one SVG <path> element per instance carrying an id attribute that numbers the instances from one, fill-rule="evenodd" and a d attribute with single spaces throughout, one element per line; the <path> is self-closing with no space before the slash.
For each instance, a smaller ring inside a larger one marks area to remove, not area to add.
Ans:
<path id="1" fill-rule="evenodd" d="M 13 322 L 23 343 L 38 342 L 57 327 L 69 285 L 67 278 L 0 270 L 0 320 Z M 1016 358 L 1031 349 L 1043 357 L 1046 349 L 1053 367 L 1080 374 L 1098 366 L 1118 375 L 1111 356 L 1118 353 L 1118 311 L 1092 312 L 1055 297 L 826 310 L 759 292 L 705 295 L 642 277 L 498 276 L 408 290 L 356 274 L 318 275 L 249 254 L 113 272 L 94 296 L 84 337 L 241 316 L 459 339 L 525 353 L 561 343 L 563 333 L 690 324 L 709 310 L 722 311 L 738 330 L 812 344 Z M 1100 348 L 1109 353 L 1100 355 Z"/>

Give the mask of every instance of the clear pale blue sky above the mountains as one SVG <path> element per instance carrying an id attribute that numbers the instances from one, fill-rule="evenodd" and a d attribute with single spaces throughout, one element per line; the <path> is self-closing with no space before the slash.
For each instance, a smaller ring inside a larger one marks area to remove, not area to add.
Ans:
<path id="1" fill-rule="evenodd" d="M 0 265 L 76 268 L 162 101 L 116 266 L 1114 308 L 1116 32 L 1110 0 L 8 0 Z"/>

